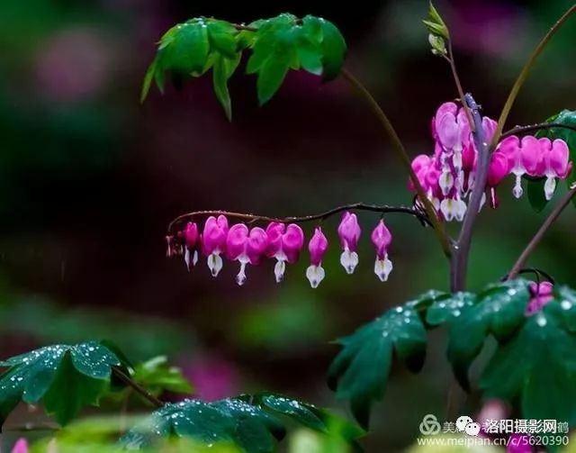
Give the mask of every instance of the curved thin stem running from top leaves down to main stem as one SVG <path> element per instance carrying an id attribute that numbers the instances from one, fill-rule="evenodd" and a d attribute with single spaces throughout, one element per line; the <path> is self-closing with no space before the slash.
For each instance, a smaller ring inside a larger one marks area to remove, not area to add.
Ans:
<path id="1" fill-rule="evenodd" d="M 432 205 L 430 200 L 428 200 L 428 197 L 426 196 L 424 188 L 420 184 L 419 179 L 416 176 L 416 173 L 414 173 L 414 170 L 410 162 L 410 157 L 408 156 L 408 153 L 406 152 L 406 149 L 404 148 L 404 145 L 402 144 L 400 137 L 398 136 L 398 133 L 394 130 L 392 122 L 390 122 L 386 114 L 383 112 L 382 107 L 380 107 L 380 105 L 376 102 L 374 96 L 350 71 L 347 70 L 347 68 L 342 68 L 341 74 L 342 77 L 344 77 L 352 86 L 354 86 L 354 88 L 356 88 L 356 91 L 365 98 L 366 102 L 369 104 L 374 115 L 383 126 L 383 130 L 392 140 L 392 149 L 394 149 L 398 157 L 401 159 L 402 164 L 408 171 L 410 179 L 414 184 L 414 186 L 416 187 L 416 192 L 419 196 L 419 201 L 424 205 L 424 209 L 428 214 L 428 219 L 430 220 L 430 222 L 432 222 L 432 226 L 434 227 L 434 231 L 436 231 L 437 238 L 440 242 L 440 245 L 442 246 L 442 249 L 444 250 L 444 254 L 446 255 L 446 257 L 449 258 L 452 255 L 451 240 L 446 233 L 444 224 L 439 221 L 434 206 Z"/>

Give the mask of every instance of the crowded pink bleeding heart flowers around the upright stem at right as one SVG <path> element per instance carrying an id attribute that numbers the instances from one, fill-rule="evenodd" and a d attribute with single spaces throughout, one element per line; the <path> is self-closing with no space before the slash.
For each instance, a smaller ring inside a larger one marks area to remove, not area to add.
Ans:
<path id="1" fill-rule="evenodd" d="M 484 140 L 494 137 L 497 123 L 488 117 L 482 118 Z M 475 183 L 478 150 L 463 107 L 455 103 L 440 105 L 432 119 L 432 136 L 435 140 L 434 154 L 421 154 L 412 160 L 412 168 L 424 188 L 428 199 L 437 212 L 447 221 L 462 221 L 466 213 L 466 198 Z M 568 145 L 564 140 L 537 139 L 527 135 L 521 140 L 512 135 L 501 140 L 491 154 L 486 192 L 490 195 L 493 208 L 498 205 L 496 186 L 512 174 L 515 186 L 512 193 L 517 198 L 523 193 L 522 177 L 545 177 L 545 197 L 554 195 L 556 178 L 564 179 L 572 170 Z M 415 191 L 409 183 L 410 190 Z"/>

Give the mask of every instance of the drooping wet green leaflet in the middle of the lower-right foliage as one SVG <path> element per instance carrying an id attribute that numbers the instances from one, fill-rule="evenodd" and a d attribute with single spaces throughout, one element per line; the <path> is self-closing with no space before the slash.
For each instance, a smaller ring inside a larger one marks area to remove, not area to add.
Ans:
<path id="1" fill-rule="evenodd" d="M 464 308 L 457 322 L 451 322 L 448 360 L 455 377 L 465 390 L 470 388 L 468 368 L 480 354 L 489 334 L 498 340 L 509 338 L 525 321 L 529 300 L 527 281 L 516 279 L 490 285 Z"/>

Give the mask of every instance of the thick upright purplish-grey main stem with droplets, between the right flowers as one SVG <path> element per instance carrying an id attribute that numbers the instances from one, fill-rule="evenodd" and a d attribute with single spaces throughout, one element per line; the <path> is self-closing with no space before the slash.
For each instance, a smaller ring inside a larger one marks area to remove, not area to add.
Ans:
<path id="1" fill-rule="evenodd" d="M 480 114 L 479 107 L 474 101 L 472 95 L 466 94 L 464 98 L 466 99 L 466 104 L 470 107 L 475 125 L 473 140 L 476 149 L 478 149 L 478 168 L 474 178 L 474 188 L 472 195 L 470 195 L 470 202 L 468 203 L 460 235 L 455 245 L 455 254 L 453 256 L 450 271 L 450 285 L 452 291 L 463 291 L 466 285 L 466 269 L 468 267 L 468 255 L 470 254 L 472 232 L 474 222 L 476 222 L 476 216 L 480 210 L 482 195 L 484 194 L 486 179 L 488 178 L 488 167 L 490 164 L 490 149 L 486 142 L 486 138 L 484 137 L 482 115 Z"/>

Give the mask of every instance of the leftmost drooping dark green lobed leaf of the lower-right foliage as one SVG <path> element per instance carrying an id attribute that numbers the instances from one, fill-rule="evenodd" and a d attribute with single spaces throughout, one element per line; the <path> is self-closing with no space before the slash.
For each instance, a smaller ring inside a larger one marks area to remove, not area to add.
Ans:
<path id="1" fill-rule="evenodd" d="M 329 368 L 329 386 L 338 399 L 350 400 L 356 420 L 366 428 L 374 400 L 383 397 L 392 365 L 392 351 L 412 371 L 424 363 L 427 335 L 417 309 L 439 294 L 426 293 L 365 324 L 338 340 L 343 346 Z"/>

